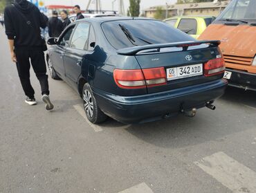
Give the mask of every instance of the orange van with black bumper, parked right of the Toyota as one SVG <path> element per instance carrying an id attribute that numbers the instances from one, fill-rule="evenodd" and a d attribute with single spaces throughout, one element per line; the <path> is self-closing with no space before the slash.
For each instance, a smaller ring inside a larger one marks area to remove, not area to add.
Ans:
<path id="1" fill-rule="evenodd" d="M 256 91 L 256 0 L 232 0 L 199 39 L 221 40 L 229 85 Z"/>

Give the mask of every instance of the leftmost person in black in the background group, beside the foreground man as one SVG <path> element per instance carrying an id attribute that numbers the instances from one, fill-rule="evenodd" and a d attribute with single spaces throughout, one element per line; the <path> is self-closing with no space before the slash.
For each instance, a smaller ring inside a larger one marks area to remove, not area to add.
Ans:
<path id="1" fill-rule="evenodd" d="M 50 37 L 59 37 L 63 31 L 62 21 L 58 18 L 57 11 L 53 10 L 53 17 L 48 21 L 48 33 Z"/>

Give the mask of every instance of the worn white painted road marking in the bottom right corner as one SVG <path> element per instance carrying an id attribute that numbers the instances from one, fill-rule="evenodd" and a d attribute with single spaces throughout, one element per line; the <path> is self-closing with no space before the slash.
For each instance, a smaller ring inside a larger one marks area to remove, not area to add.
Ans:
<path id="1" fill-rule="evenodd" d="M 232 192 L 256 192 L 256 173 L 223 152 L 194 163 Z"/>

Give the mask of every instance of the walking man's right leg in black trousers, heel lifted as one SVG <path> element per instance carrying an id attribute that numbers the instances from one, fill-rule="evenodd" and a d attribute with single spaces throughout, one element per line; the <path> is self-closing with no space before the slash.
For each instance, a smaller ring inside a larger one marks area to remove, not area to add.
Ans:
<path id="1" fill-rule="evenodd" d="M 46 75 L 46 62 L 44 58 L 44 52 L 41 50 L 31 50 L 30 59 L 35 75 L 40 82 L 42 89 L 42 100 L 46 103 L 46 110 L 52 110 L 53 104 L 49 98 L 49 86 L 48 86 L 48 75 Z"/>

